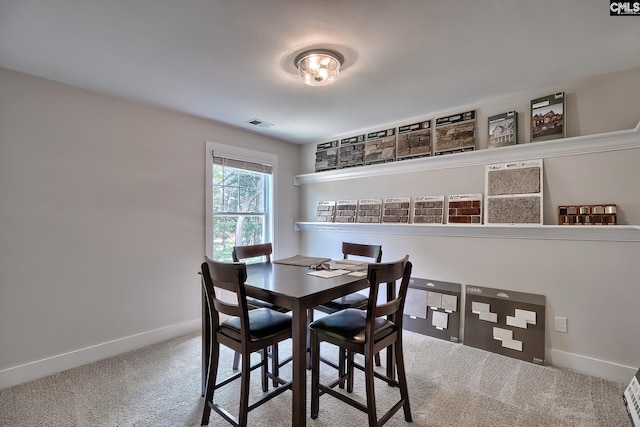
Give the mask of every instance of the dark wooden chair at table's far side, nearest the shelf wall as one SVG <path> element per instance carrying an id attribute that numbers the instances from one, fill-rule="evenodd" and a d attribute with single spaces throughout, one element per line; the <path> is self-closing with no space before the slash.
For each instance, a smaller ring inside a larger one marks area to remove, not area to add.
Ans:
<path id="1" fill-rule="evenodd" d="M 343 259 L 349 259 L 350 256 L 356 256 L 359 258 L 369 258 L 373 262 L 379 263 L 382 261 L 382 246 L 381 245 L 367 245 L 362 243 L 351 243 L 351 242 L 342 242 L 342 257 Z M 369 297 L 367 295 L 361 294 L 359 292 L 354 292 L 352 294 L 336 298 L 328 303 L 321 304 L 319 306 L 314 307 L 314 310 L 321 311 L 323 313 L 331 314 L 340 310 L 344 310 L 345 308 L 358 308 L 364 310 L 367 308 L 367 301 Z M 309 313 L 310 321 L 313 321 L 313 310 Z M 340 351 L 338 354 L 338 364 L 334 364 L 330 360 L 325 358 L 322 359 L 322 362 L 338 369 L 340 372 L 344 372 L 345 369 L 345 361 L 346 361 L 346 352 Z M 376 366 L 380 366 L 380 355 L 376 353 L 375 355 L 375 363 Z M 340 384 L 340 388 L 343 388 L 343 384 Z"/>

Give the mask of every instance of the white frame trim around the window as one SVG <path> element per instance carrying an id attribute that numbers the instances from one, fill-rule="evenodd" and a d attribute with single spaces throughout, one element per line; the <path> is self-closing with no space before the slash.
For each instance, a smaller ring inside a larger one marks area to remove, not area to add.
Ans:
<path id="1" fill-rule="evenodd" d="M 247 148 L 235 147 L 233 145 L 220 144 L 206 141 L 205 144 L 205 254 L 213 257 L 213 153 L 218 157 L 227 157 L 247 162 L 262 163 L 273 168 L 271 174 L 271 194 L 269 195 L 267 215 L 267 241 L 273 242 L 273 236 L 278 235 L 276 229 L 276 188 L 278 188 L 278 157 L 275 154 L 264 153 L 262 151 Z M 276 256 L 276 245 L 273 245 L 274 256 Z"/>

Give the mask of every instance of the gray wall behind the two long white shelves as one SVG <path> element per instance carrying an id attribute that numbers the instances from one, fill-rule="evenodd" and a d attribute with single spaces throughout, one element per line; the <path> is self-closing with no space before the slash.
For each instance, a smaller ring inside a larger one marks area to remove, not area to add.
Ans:
<path id="1" fill-rule="evenodd" d="M 558 91 L 568 95 L 569 137 L 633 129 L 640 121 L 640 68 L 424 118 L 476 108 L 479 145 L 486 147 L 487 117 L 515 109 L 520 140 L 528 141 L 529 101 Z M 313 171 L 314 152 L 315 144 L 303 148 L 305 172 Z M 558 205 L 572 203 L 616 203 L 620 223 L 640 224 L 639 165 L 640 149 L 545 160 L 545 224 L 556 224 Z M 301 220 L 313 221 L 315 206 L 323 200 L 483 193 L 484 167 L 312 183 L 301 190 Z M 409 254 L 417 277 L 545 295 L 548 362 L 620 381 L 637 370 L 639 242 L 392 235 L 377 233 L 375 226 L 369 231 L 304 231 L 301 250 L 339 256 L 343 240 L 378 243 L 383 260 Z M 569 319 L 568 333 L 553 331 L 554 316 Z"/>

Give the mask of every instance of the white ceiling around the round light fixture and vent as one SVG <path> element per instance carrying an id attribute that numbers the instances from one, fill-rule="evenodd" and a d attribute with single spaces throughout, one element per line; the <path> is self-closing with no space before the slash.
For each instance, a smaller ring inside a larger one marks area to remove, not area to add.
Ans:
<path id="1" fill-rule="evenodd" d="M 605 0 L 0 0 L 0 67 L 295 143 L 638 67 L 639 41 Z M 304 86 L 319 47 L 340 78 Z"/>

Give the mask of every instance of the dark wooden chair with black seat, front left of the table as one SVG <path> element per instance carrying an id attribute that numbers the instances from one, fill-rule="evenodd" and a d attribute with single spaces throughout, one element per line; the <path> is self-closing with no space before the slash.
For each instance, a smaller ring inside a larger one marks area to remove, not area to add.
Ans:
<path id="1" fill-rule="evenodd" d="M 211 348 L 201 424 L 209 424 L 213 409 L 232 425 L 244 427 L 247 425 L 249 411 L 291 389 L 292 383 L 269 372 L 267 363 L 267 347 L 277 346 L 279 342 L 291 338 L 291 316 L 269 308 L 249 310 L 245 292 L 246 264 L 219 262 L 205 256 L 201 271 L 211 324 Z M 235 294 L 235 301 L 221 299 L 222 289 Z M 223 321 L 221 315 L 225 315 L 226 320 Z M 229 378 L 216 382 L 220 344 L 242 355 L 242 369 Z M 251 366 L 250 355 L 254 352 L 260 352 L 260 362 Z M 264 394 L 249 404 L 250 375 L 257 368 L 261 369 Z M 241 383 L 240 405 L 238 416 L 235 417 L 214 401 L 214 392 L 238 378 Z M 269 391 L 268 379 L 277 381 L 280 387 Z"/>

